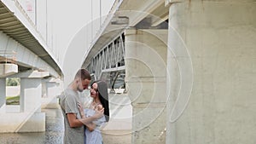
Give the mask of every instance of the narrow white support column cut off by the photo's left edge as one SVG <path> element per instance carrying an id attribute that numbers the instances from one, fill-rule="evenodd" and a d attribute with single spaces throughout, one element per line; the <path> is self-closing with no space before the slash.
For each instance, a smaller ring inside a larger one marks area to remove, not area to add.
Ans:
<path id="1" fill-rule="evenodd" d="M 0 78 L 0 113 L 5 112 L 6 78 Z"/>

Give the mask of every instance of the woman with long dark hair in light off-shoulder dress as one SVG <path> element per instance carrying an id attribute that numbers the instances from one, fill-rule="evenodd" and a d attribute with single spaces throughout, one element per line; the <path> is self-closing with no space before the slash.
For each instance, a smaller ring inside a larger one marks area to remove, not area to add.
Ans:
<path id="1" fill-rule="evenodd" d="M 79 108 L 82 117 L 90 117 L 96 110 L 102 108 L 104 108 L 105 117 L 98 118 L 96 121 L 86 124 L 84 144 L 101 144 L 103 142 L 100 127 L 109 120 L 108 85 L 103 81 L 94 82 L 90 86 L 90 97 L 93 98 L 90 107 L 85 108 L 84 111 L 81 107 Z"/>

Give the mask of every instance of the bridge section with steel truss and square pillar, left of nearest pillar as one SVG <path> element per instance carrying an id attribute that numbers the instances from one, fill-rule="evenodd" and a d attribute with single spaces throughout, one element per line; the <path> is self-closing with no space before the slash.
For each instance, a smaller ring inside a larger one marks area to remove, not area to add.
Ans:
<path id="1" fill-rule="evenodd" d="M 169 9 L 165 1 L 115 1 L 82 67 L 131 100 L 131 143 L 165 143 Z M 159 90 L 160 89 L 160 90 Z"/>

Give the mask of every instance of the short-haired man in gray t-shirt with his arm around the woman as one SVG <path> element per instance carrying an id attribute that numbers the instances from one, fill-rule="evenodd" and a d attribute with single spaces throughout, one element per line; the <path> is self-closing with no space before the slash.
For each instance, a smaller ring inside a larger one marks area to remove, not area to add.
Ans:
<path id="1" fill-rule="evenodd" d="M 61 111 L 64 117 L 64 144 L 83 144 L 84 143 L 84 124 L 89 124 L 97 118 L 103 116 L 102 111 L 97 111 L 95 115 L 89 118 L 82 118 L 79 112 L 78 104 L 79 92 L 88 89 L 90 84 L 90 73 L 85 69 L 80 69 L 75 78 L 64 90 L 60 96 Z"/>

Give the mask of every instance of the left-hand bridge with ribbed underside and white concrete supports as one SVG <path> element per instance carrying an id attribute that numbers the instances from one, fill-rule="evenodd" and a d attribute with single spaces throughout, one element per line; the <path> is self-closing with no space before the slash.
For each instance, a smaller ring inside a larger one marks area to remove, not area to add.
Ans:
<path id="1" fill-rule="evenodd" d="M 44 131 L 42 96 L 58 95 L 61 86 L 60 61 L 46 42 L 49 36 L 23 4 L 0 2 L 0 132 Z M 6 105 L 7 78 L 20 78 L 19 105 Z"/>

